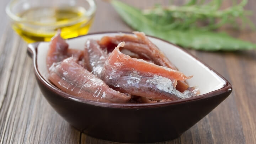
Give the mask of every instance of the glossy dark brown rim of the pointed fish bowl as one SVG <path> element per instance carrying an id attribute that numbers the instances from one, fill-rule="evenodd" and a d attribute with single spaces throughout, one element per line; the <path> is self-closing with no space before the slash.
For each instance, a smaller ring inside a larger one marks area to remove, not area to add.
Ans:
<path id="1" fill-rule="evenodd" d="M 133 34 L 132 32 L 125 32 L 125 31 L 106 31 L 106 32 L 89 33 L 89 34 L 81 35 L 81 36 L 78 36 L 78 37 L 90 36 L 90 35 L 95 35 L 95 34 L 106 34 L 106 33 Z M 83 98 L 79 98 L 79 97 L 76 97 L 76 96 L 73 96 L 73 95 L 70 95 L 70 94 L 67 94 L 67 93 L 63 92 L 62 90 L 60 90 L 57 87 L 50 84 L 39 73 L 39 71 L 37 69 L 37 47 L 38 47 L 39 43 L 41 43 L 41 42 L 35 42 L 35 43 L 28 44 L 27 51 L 28 51 L 28 54 L 33 58 L 34 73 L 35 73 L 37 79 L 39 80 L 39 82 L 41 82 L 41 84 L 43 84 L 45 87 L 47 87 L 47 89 L 54 92 L 58 96 L 66 98 L 66 99 L 71 100 L 71 101 L 79 102 L 79 103 L 101 106 L 101 107 L 111 107 L 111 108 L 149 108 L 149 107 L 162 107 L 162 106 L 167 106 L 167 105 L 168 106 L 169 105 L 176 105 L 176 104 L 179 104 L 179 103 L 186 103 L 186 102 L 196 101 L 196 100 L 209 98 L 209 97 L 213 97 L 213 96 L 217 96 L 217 95 L 221 95 L 221 94 L 228 94 L 229 95 L 231 93 L 232 85 L 230 84 L 230 82 L 228 80 L 226 80 L 222 75 L 220 75 L 217 71 L 212 69 L 210 66 L 208 66 L 207 64 L 205 64 L 204 62 L 199 60 L 197 57 L 192 55 L 190 52 L 188 52 L 187 50 L 185 50 L 185 49 L 181 48 L 180 46 L 177 46 L 177 45 L 175 45 L 171 42 L 165 41 L 164 39 L 154 37 L 154 36 L 149 36 L 149 35 L 146 35 L 146 36 L 159 39 L 161 41 L 164 41 L 166 43 L 169 43 L 169 44 L 175 46 L 176 48 L 181 49 L 183 52 L 189 54 L 190 56 L 192 56 L 193 58 L 195 58 L 196 60 L 201 62 L 203 65 L 205 65 L 207 68 L 212 70 L 220 78 L 222 78 L 225 81 L 225 85 L 222 88 L 218 89 L 218 90 L 214 90 L 214 91 L 208 92 L 208 93 L 203 94 L 203 95 L 198 95 L 198 96 L 185 98 L 185 99 L 181 99 L 181 100 L 159 102 L 159 103 L 109 103 L 109 102 L 99 102 L 99 101 L 93 101 L 93 100 L 85 100 Z M 73 37 L 73 38 L 68 38 L 68 39 L 74 39 L 74 38 L 78 38 L 78 37 Z"/>

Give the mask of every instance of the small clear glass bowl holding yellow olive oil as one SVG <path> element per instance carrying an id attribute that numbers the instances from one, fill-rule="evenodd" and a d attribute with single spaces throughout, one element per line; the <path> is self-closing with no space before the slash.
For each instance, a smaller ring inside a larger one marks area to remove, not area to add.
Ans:
<path id="1" fill-rule="evenodd" d="M 28 43 L 87 34 L 94 19 L 94 0 L 11 0 L 6 13 L 12 28 Z"/>

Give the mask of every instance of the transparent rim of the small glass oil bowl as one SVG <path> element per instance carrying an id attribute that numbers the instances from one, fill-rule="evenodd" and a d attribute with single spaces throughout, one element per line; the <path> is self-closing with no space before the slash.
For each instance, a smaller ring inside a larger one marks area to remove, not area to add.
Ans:
<path id="1" fill-rule="evenodd" d="M 29 23 L 30 25 L 37 25 L 37 26 L 52 26 L 54 24 L 54 26 L 65 26 L 65 25 L 69 25 L 70 23 L 78 23 L 80 21 L 83 20 L 84 17 L 88 18 L 89 22 L 92 19 L 92 16 L 94 16 L 95 11 L 96 11 L 96 4 L 94 0 L 84 0 L 87 1 L 89 4 L 89 9 L 86 10 L 86 12 L 79 18 L 74 18 L 73 20 L 71 20 L 68 23 L 43 23 L 43 22 L 35 22 L 35 21 L 28 21 L 24 18 L 21 18 L 17 15 L 15 15 L 12 11 L 11 11 L 11 7 L 14 4 L 14 2 L 16 2 L 17 0 L 11 0 L 5 7 L 5 12 L 6 14 L 11 18 L 12 21 L 14 22 L 20 22 L 20 23 Z"/>

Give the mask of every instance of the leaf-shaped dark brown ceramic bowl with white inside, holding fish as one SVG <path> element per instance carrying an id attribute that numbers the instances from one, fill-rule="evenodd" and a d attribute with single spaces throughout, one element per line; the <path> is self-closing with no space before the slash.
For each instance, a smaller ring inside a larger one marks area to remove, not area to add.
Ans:
<path id="1" fill-rule="evenodd" d="M 100 39 L 119 32 L 92 33 L 68 39 L 71 48 L 84 47 L 88 38 Z M 188 83 L 198 85 L 201 95 L 182 100 L 150 104 L 118 104 L 82 100 L 66 94 L 47 79 L 48 42 L 29 44 L 38 85 L 50 105 L 76 129 L 92 137 L 123 143 L 152 143 L 171 140 L 196 124 L 232 91 L 230 83 L 186 50 L 148 36 L 177 68 L 194 75 Z M 225 118 L 224 118 L 225 119 Z"/>

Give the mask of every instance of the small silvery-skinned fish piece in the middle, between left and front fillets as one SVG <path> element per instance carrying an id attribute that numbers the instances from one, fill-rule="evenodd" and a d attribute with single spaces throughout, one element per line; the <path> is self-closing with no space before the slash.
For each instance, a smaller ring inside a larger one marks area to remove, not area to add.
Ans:
<path id="1" fill-rule="evenodd" d="M 87 62 L 87 68 L 92 74 L 101 77 L 101 70 L 108 58 L 106 50 L 101 49 L 100 45 L 92 39 L 85 42 L 84 59 Z"/>

